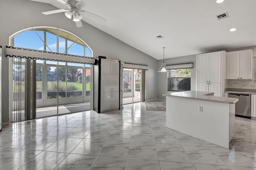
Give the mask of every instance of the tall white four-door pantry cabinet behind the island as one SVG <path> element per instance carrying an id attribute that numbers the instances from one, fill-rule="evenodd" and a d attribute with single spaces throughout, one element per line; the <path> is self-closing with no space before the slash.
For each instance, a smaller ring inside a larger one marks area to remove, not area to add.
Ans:
<path id="1" fill-rule="evenodd" d="M 214 96 L 223 96 L 225 63 L 226 51 L 198 54 L 197 91 L 214 92 Z"/>

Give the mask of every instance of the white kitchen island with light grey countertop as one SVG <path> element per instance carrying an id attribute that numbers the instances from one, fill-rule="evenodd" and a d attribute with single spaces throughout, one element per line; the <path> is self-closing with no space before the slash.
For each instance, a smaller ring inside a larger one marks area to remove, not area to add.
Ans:
<path id="1" fill-rule="evenodd" d="M 229 148 L 234 136 L 236 98 L 182 91 L 166 96 L 166 127 Z"/>

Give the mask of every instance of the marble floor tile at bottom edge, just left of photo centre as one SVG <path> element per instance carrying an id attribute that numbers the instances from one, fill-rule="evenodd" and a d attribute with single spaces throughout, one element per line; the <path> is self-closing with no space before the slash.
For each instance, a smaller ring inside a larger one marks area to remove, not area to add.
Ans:
<path id="1" fill-rule="evenodd" d="M 91 170 L 125 170 L 127 158 L 98 156 Z"/>

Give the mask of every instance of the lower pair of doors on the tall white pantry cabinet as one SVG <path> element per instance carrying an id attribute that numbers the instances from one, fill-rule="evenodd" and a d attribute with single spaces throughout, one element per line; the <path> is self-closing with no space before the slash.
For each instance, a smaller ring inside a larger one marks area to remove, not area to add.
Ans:
<path id="1" fill-rule="evenodd" d="M 220 96 L 220 83 L 198 83 L 198 91 L 213 92 L 214 96 Z"/>

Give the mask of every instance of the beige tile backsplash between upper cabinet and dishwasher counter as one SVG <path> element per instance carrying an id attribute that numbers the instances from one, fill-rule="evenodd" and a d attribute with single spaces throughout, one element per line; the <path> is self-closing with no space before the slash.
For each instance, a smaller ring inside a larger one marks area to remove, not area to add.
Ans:
<path id="1" fill-rule="evenodd" d="M 232 87 L 232 84 L 234 87 Z M 256 89 L 256 83 L 253 80 L 227 80 L 228 88 L 236 89 Z"/>

